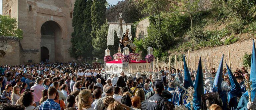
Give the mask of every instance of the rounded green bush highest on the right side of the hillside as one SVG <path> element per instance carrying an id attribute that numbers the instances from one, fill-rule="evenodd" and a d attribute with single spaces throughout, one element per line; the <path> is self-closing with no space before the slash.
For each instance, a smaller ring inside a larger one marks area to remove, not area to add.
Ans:
<path id="1" fill-rule="evenodd" d="M 231 29 L 235 34 L 238 34 L 244 28 L 244 20 L 240 18 L 233 18 L 231 23 L 227 25 L 227 28 Z"/>

